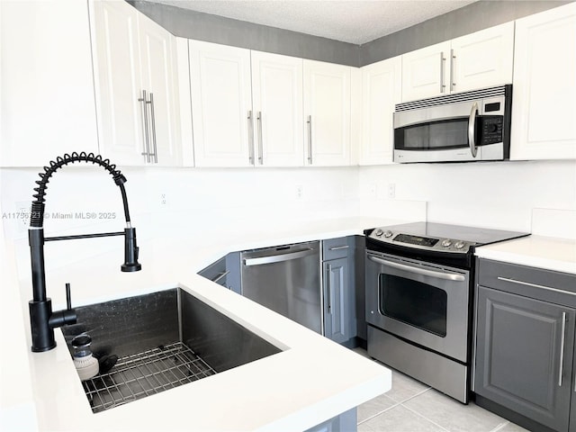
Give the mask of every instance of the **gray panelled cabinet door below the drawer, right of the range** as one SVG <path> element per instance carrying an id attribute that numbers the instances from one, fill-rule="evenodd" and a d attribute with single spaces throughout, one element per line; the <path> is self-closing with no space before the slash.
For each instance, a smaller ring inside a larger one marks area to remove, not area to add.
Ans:
<path id="1" fill-rule="evenodd" d="M 479 286 L 476 392 L 568 430 L 575 312 Z"/>

